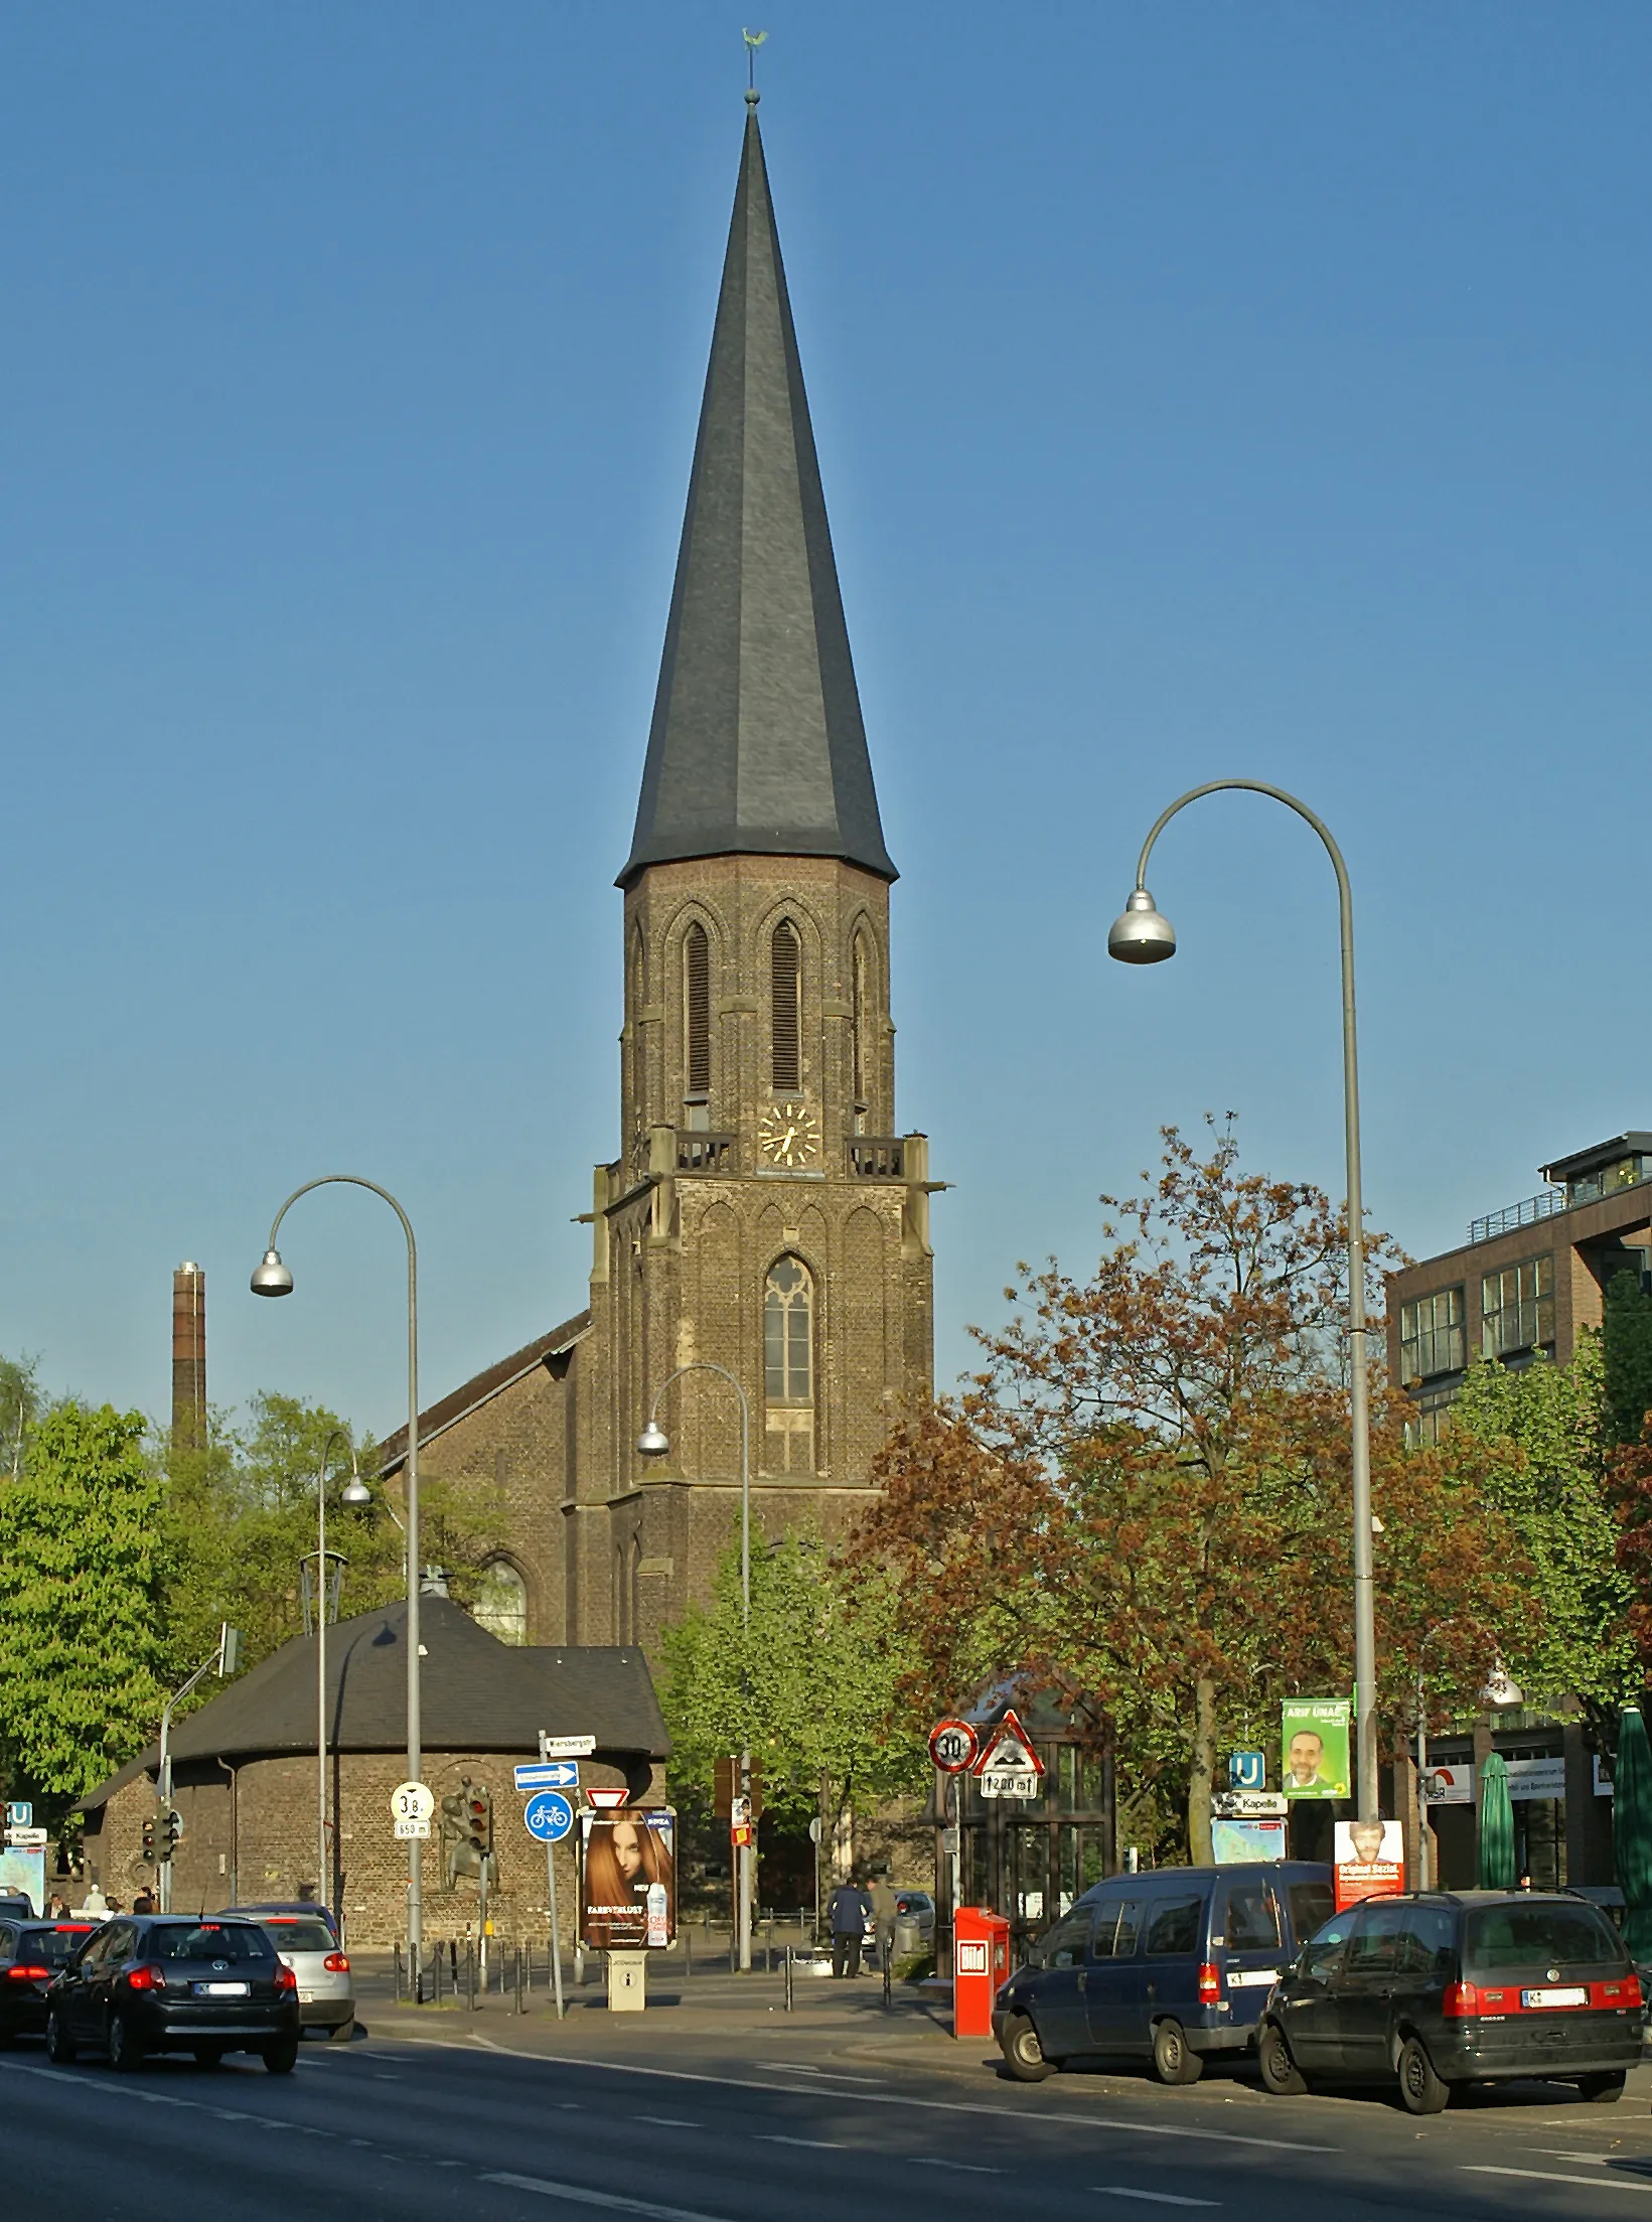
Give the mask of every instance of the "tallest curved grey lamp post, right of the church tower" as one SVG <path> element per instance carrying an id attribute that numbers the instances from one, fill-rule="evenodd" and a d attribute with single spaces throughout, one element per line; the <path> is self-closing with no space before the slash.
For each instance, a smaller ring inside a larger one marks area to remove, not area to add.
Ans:
<path id="1" fill-rule="evenodd" d="M 1366 1375 L 1366 1215 L 1359 1191 L 1359 1053 L 1354 1038 L 1354 898 L 1348 867 L 1330 829 L 1306 802 L 1263 780 L 1208 780 L 1179 795 L 1141 842 L 1137 878 L 1124 915 L 1108 931 L 1108 955 L 1121 964 L 1161 964 L 1177 953 L 1177 935 L 1148 893 L 1152 844 L 1190 802 L 1223 789 L 1272 795 L 1314 829 L 1337 871 L 1341 920 L 1341 1038 L 1343 1038 L 1343 1142 L 1348 1151 L 1348 1407 L 1354 1484 L 1354 1722 L 1359 1733 L 1359 1818 L 1377 1820 L 1377 1613 L 1372 1582 L 1370 1518 L 1370 1380 Z"/>

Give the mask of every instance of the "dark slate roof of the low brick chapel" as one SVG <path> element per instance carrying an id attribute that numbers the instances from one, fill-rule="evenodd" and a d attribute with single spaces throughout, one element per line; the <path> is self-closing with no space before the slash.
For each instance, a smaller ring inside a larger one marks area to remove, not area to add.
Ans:
<path id="1" fill-rule="evenodd" d="M 326 1631 L 329 1742 L 335 1751 L 406 1744 L 406 1600 Z M 420 1598 L 426 1751 L 511 1751 L 533 1758 L 540 1729 L 595 1735 L 597 1760 L 664 1760 L 671 1738 L 648 1662 L 635 1647 L 502 1644 L 451 1598 Z M 315 1638 L 295 1635 L 171 1735 L 175 1762 L 253 1760 L 315 1751 Z M 160 1764 L 151 1744 L 82 1800 L 98 1806 Z"/>

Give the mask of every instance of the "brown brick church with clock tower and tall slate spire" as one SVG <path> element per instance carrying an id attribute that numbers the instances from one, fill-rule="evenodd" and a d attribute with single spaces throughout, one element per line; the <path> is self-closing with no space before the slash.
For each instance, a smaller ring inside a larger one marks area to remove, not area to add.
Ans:
<path id="1" fill-rule="evenodd" d="M 420 1427 L 431 1471 L 502 1491 L 477 1615 L 533 1642 L 653 1651 L 708 1595 L 739 1398 L 713 1371 L 666 1389 L 679 1367 L 744 1389 L 757 1538 L 839 1533 L 933 1373 L 928 1144 L 895 1133 L 895 864 L 748 102 L 617 882 L 622 1153 L 595 1173 L 591 1307 Z"/>

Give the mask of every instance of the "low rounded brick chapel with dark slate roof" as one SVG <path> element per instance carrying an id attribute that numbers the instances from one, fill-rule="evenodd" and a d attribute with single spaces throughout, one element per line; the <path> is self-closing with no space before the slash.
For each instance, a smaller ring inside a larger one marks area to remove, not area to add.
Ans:
<path id="1" fill-rule="evenodd" d="M 318 1878 L 315 1638 L 282 1644 L 171 1738 L 173 1806 L 184 1835 L 173 1904 L 213 1909 L 320 1895 L 351 1938 L 406 1935 L 406 1844 L 391 1833 L 391 1791 L 406 1775 L 406 1607 L 357 1613 L 329 1629 L 331 1873 Z M 488 1913 L 506 1940 L 546 1935 L 544 1849 L 522 1826 L 513 1764 L 553 1735 L 595 1735 L 582 1782 L 624 1784 L 664 1802 L 666 1729 L 635 1649 L 513 1649 L 446 1598 L 420 1600 L 424 1649 L 424 1780 L 440 1802 L 473 1786 L 493 1793 L 497 1886 Z M 107 1898 L 131 1904 L 155 1882 L 142 1826 L 155 1813 L 160 1751 L 151 1744 L 84 1800 L 84 1860 Z M 560 1853 L 557 1911 L 573 1942 L 573 1844 Z M 318 1889 L 320 1882 L 320 1889 Z M 475 1931 L 477 1886 L 449 1858 L 442 1822 L 424 1846 L 424 1933 Z"/>

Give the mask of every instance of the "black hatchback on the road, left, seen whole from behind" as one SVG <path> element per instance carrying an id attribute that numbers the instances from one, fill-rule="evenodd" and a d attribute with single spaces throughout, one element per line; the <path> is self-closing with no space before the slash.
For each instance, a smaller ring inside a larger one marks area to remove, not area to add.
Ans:
<path id="1" fill-rule="evenodd" d="M 113 2069 L 149 2053 L 258 2053 L 271 2075 L 298 2060 L 298 1978 L 258 1922 L 191 1913 L 118 1913 L 58 1975 L 47 2000 L 47 2055 L 82 2046 Z"/>

